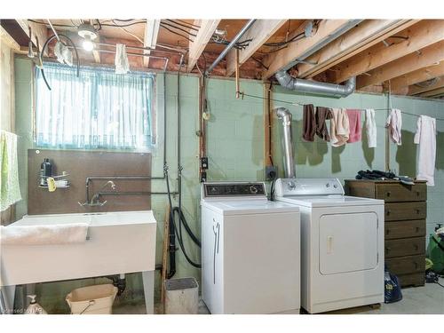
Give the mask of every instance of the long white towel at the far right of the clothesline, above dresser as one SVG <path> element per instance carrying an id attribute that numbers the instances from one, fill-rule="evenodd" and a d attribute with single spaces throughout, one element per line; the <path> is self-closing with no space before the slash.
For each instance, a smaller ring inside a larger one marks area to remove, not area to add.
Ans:
<path id="1" fill-rule="evenodd" d="M 436 120 L 421 115 L 416 123 L 414 142 L 419 145 L 416 179 L 427 180 L 428 186 L 434 186 L 436 159 Z"/>

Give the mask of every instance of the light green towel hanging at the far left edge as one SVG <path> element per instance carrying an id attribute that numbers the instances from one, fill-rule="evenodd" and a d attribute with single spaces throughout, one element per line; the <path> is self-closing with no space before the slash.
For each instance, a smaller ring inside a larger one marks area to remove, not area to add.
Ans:
<path id="1" fill-rule="evenodd" d="M 17 135 L 0 132 L 0 211 L 21 200 L 19 164 L 17 162 Z"/>

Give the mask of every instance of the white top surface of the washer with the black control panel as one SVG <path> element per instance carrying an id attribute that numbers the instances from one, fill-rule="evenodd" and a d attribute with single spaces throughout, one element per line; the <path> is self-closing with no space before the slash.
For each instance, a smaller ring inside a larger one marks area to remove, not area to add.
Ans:
<path id="1" fill-rule="evenodd" d="M 270 214 L 298 212 L 299 208 L 285 202 L 270 202 L 268 200 L 223 200 L 201 202 L 202 207 L 217 211 L 224 216 L 242 214 Z"/>

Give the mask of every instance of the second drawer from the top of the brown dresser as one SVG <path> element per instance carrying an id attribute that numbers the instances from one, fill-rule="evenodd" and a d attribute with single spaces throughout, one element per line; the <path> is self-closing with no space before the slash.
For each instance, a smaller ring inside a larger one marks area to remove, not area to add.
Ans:
<path id="1" fill-rule="evenodd" d="M 426 202 L 385 203 L 385 221 L 397 221 L 401 219 L 424 219 L 426 217 Z"/>

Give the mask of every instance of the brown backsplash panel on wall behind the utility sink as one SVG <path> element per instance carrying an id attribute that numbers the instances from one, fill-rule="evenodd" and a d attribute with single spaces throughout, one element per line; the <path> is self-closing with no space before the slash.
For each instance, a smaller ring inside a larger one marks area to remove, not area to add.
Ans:
<path id="1" fill-rule="evenodd" d="M 37 154 L 38 152 L 38 154 Z M 52 163 L 52 174 L 67 171 L 71 186 L 49 192 L 40 188 L 38 176 L 44 158 Z M 28 214 L 83 213 L 93 211 L 150 210 L 149 195 L 106 195 L 102 207 L 81 207 L 85 202 L 85 180 L 91 176 L 150 176 L 151 155 L 148 153 L 111 153 L 98 151 L 28 149 Z M 113 180 L 115 191 L 150 191 L 149 180 Z M 107 180 L 93 180 L 90 183 L 90 199 Z M 102 192 L 112 191 L 107 186 Z"/>

